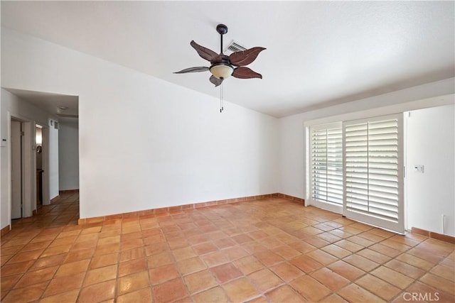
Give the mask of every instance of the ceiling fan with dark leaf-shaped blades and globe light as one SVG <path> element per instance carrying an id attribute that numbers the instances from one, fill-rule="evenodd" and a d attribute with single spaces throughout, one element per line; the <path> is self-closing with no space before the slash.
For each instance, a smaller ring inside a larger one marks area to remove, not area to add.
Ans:
<path id="1" fill-rule="evenodd" d="M 260 78 L 262 75 L 251 70 L 245 65 L 249 65 L 251 62 L 255 61 L 257 55 L 265 50 L 265 48 L 250 48 L 249 50 L 243 50 L 239 52 L 232 53 L 231 55 L 223 54 L 223 35 L 228 33 L 228 26 L 224 24 L 218 24 L 216 31 L 221 36 L 221 49 L 220 54 L 215 53 L 213 50 L 204 48 L 203 46 L 198 45 L 198 43 L 191 41 L 190 45 L 198 52 L 200 57 L 210 62 L 210 67 L 189 67 L 180 72 L 174 72 L 174 74 L 184 74 L 186 72 L 205 72 L 210 71 L 212 75 L 210 76 L 210 82 L 215 84 L 215 87 L 218 87 L 224 79 L 232 75 L 232 77 L 239 79 L 250 79 L 250 78 Z"/>

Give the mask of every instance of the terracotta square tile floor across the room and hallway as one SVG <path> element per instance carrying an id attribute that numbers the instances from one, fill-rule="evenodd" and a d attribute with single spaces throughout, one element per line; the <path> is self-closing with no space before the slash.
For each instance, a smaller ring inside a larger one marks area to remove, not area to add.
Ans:
<path id="1" fill-rule="evenodd" d="M 77 194 L 1 238 L 1 302 L 455 302 L 453 244 L 285 199 L 77 226 Z"/>

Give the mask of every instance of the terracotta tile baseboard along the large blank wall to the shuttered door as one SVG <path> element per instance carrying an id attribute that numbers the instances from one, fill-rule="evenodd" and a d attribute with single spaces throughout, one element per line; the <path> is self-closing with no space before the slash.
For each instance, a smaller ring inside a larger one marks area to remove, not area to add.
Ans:
<path id="1" fill-rule="evenodd" d="M 95 216 L 91 218 L 82 218 L 77 221 L 77 224 L 91 224 L 91 223 L 99 223 L 102 221 L 114 220 L 114 219 L 125 219 L 125 218 L 134 218 L 140 216 L 155 216 L 159 214 L 169 214 L 176 211 L 183 211 L 186 209 L 198 209 L 201 207 L 209 207 L 215 205 L 223 205 L 223 204 L 230 204 L 230 203 L 237 203 L 237 202 L 247 202 L 247 201 L 255 201 L 260 199 L 270 199 L 270 198 L 283 198 L 290 200 L 292 202 L 299 202 L 302 205 L 305 205 L 305 200 L 297 197 L 292 197 L 287 194 L 260 194 L 258 196 L 250 196 L 250 197 L 241 197 L 241 198 L 234 198 L 234 199 L 225 199 L 225 200 L 217 200 L 217 201 L 210 201 L 210 202 L 202 202 L 202 203 L 193 203 L 193 204 L 184 204 L 179 206 L 169 206 L 169 207 L 162 207 L 159 209 L 146 209 L 143 211 L 132 211 L 123 214 L 112 214 L 109 216 Z"/>

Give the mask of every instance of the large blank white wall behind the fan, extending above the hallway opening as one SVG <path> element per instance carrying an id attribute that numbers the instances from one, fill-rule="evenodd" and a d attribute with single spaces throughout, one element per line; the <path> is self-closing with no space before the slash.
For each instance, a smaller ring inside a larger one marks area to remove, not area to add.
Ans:
<path id="1" fill-rule="evenodd" d="M 279 191 L 277 119 L 1 31 L 2 86 L 79 96 L 81 218 Z"/>

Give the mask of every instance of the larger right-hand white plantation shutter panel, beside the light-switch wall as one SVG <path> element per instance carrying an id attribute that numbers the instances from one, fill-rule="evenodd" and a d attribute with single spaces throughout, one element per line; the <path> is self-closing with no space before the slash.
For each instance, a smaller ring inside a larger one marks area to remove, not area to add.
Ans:
<path id="1" fill-rule="evenodd" d="M 404 232 L 402 117 L 344 123 L 345 204 L 353 219 Z"/>

